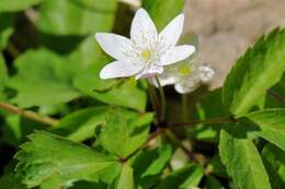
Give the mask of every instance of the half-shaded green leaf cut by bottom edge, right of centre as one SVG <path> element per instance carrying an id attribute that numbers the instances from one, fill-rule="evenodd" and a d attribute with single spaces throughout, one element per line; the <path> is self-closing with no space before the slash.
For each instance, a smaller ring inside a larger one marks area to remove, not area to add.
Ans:
<path id="1" fill-rule="evenodd" d="M 161 180 L 156 189 L 189 189 L 197 187 L 202 177 L 203 168 L 198 165 L 189 164 L 183 168 L 176 169 Z"/>

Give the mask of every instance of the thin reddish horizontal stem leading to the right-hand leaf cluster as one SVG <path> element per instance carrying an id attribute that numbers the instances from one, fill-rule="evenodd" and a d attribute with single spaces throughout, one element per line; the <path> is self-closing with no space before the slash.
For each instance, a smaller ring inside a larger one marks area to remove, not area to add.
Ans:
<path id="1" fill-rule="evenodd" d="M 189 121 L 189 122 L 170 123 L 169 128 L 195 126 L 195 125 L 198 125 L 198 123 L 219 123 L 219 122 L 236 122 L 236 120 L 233 118 L 231 118 L 231 117 L 213 118 L 213 119 L 206 119 L 206 120 L 193 120 L 193 121 Z"/>

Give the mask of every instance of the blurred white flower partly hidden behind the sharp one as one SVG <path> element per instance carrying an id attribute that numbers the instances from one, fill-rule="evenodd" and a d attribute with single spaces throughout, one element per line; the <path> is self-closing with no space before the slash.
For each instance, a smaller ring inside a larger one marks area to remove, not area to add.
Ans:
<path id="1" fill-rule="evenodd" d="M 164 72 L 158 78 L 162 86 L 174 84 L 178 93 L 185 94 L 193 92 L 201 84 L 209 82 L 214 74 L 215 71 L 209 66 L 202 63 L 200 58 L 195 57 L 191 61 L 166 67 Z M 149 81 L 157 86 L 153 79 L 149 79 Z"/>

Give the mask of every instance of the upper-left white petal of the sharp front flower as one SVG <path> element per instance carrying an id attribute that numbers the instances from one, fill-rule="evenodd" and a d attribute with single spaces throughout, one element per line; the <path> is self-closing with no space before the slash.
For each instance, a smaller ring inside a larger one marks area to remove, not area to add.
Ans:
<path id="1" fill-rule="evenodd" d="M 126 51 L 132 49 L 130 39 L 111 33 L 96 33 L 95 38 L 102 49 L 117 60 L 125 60 Z"/>

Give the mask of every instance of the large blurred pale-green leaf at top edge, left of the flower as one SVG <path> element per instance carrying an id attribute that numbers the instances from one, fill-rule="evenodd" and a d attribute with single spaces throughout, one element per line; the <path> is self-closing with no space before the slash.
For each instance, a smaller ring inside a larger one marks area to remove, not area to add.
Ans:
<path id="1" fill-rule="evenodd" d="M 109 0 L 106 9 L 93 1 L 93 8 L 83 7 L 83 1 L 48 0 L 41 4 L 36 26 L 53 35 L 88 35 L 107 32 L 113 27 L 116 0 Z M 87 2 L 87 1 L 86 1 Z"/>

